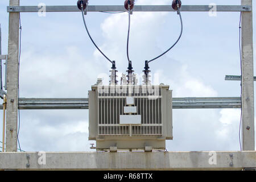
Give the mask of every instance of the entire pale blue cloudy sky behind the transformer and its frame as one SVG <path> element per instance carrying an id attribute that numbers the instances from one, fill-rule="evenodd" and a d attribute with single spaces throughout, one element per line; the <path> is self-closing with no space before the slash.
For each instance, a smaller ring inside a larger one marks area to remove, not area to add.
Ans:
<path id="1" fill-rule="evenodd" d="M 22 0 L 20 4 L 35 6 L 42 2 L 75 5 L 77 1 Z M 184 5 L 240 5 L 240 2 L 183 0 Z M 89 3 L 123 5 L 121 0 Z M 137 5 L 170 3 L 170 0 L 136 1 Z M 2 54 L 7 54 L 8 5 L 7 0 L 0 2 Z M 240 82 L 224 78 L 241 75 L 240 13 L 217 13 L 211 17 L 208 13 L 182 12 L 182 16 L 184 32 L 180 42 L 150 64 L 152 74 L 159 74 L 160 82 L 170 85 L 174 97 L 239 97 Z M 95 42 L 117 62 L 119 73 L 125 72 L 128 14 L 88 13 L 85 18 Z M 23 13 L 21 22 L 20 97 L 88 97 L 97 77 L 109 73 L 111 65 L 90 42 L 81 13 L 47 13 L 46 17 Z M 133 13 L 130 59 L 135 72 L 141 74 L 144 60 L 165 51 L 179 32 L 176 13 Z M 240 150 L 240 109 L 175 109 L 173 114 L 174 140 L 167 140 L 167 150 Z M 88 110 L 20 110 L 19 139 L 25 151 L 92 151 L 89 143 L 95 143 L 88 141 Z"/>

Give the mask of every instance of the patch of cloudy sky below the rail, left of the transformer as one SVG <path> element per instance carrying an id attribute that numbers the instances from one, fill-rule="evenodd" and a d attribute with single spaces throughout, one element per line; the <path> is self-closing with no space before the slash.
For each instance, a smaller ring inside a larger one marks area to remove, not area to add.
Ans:
<path id="1" fill-rule="evenodd" d="M 88 114 L 83 110 L 21 111 L 21 116 L 22 150 L 90 151 L 93 141 L 88 141 Z"/>

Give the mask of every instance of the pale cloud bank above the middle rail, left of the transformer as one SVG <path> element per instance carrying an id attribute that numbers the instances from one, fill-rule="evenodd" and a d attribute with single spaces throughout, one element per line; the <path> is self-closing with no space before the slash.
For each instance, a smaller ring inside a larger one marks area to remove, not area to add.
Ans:
<path id="1" fill-rule="evenodd" d="M 62 55 L 38 56 L 30 49 L 20 64 L 20 97 L 87 97 L 100 72 L 104 68 L 76 46 L 66 47 Z"/>

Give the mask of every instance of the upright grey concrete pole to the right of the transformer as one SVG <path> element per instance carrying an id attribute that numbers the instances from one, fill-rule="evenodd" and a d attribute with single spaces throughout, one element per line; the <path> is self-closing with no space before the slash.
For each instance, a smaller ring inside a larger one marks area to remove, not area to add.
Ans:
<path id="1" fill-rule="evenodd" d="M 252 0 L 241 0 L 252 5 Z M 254 151 L 253 11 L 242 12 L 242 150 Z"/>

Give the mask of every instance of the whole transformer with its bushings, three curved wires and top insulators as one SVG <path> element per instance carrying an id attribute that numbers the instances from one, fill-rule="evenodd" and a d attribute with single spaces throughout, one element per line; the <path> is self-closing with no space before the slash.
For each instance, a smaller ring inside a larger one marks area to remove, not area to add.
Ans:
<path id="1" fill-rule="evenodd" d="M 183 32 L 181 1 L 172 1 L 172 9 L 176 10 L 180 17 L 180 36 L 167 51 L 153 59 L 145 60 L 141 85 L 138 85 L 137 75 L 134 74 L 129 57 L 130 15 L 135 1 L 125 0 L 124 3 L 129 18 L 126 47 L 128 68 L 127 75 L 122 74 L 119 85 L 115 61 L 109 59 L 96 45 L 86 26 L 84 14 L 88 3 L 87 0 L 77 1 L 86 32 L 102 56 L 112 64 L 109 85 L 102 85 L 102 80 L 98 79 L 97 84 L 89 91 L 89 140 L 96 140 L 96 147 L 92 144 L 91 148 L 113 152 L 165 149 L 166 140 L 172 139 L 172 90 L 169 90 L 168 85 L 151 84 L 149 63 L 165 55 L 179 42 Z M 154 81 L 156 82 L 155 79 Z"/>

